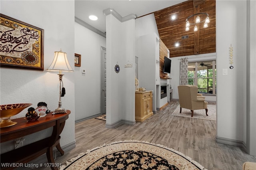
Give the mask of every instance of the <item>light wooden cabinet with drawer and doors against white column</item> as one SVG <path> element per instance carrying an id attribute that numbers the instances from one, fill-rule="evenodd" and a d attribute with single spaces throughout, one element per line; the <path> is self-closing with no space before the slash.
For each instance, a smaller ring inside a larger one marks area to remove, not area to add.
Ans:
<path id="1" fill-rule="evenodd" d="M 143 122 L 153 115 L 152 111 L 152 92 L 153 91 L 136 91 L 135 92 L 135 120 Z"/>

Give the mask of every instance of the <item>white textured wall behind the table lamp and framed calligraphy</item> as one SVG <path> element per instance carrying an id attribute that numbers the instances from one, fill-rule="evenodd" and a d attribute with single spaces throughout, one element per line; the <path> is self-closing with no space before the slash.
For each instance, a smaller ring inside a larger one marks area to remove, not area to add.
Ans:
<path id="1" fill-rule="evenodd" d="M 1 14 L 44 29 L 44 71 L 1 67 L 1 105 L 32 103 L 31 107 L 36 108 L 38 102 L 44 101 L 48 104 L 48 109 L 53 111 L 58 107 L 59 81 L 57 72 L 48 72 L 46 69 L 53 60 L 54 51 L 59 51 L 60 48 L 67 53 L 74 69 L 74 1 L 1 0 L 0 8 Z M 61 134 L 61 146 L 75 142 L 74 72 L 64 74 L 66 95 L 62 106 L 69 109 L 71 114 Z M 16 118 L 25 117 L 26 113 L 27 109 L 24 109 Z M 49 135 L 50 129 L 26 136 L 24 144 Z M 1 143 L 1 153 L 13 148 L 13 142 Z"/>

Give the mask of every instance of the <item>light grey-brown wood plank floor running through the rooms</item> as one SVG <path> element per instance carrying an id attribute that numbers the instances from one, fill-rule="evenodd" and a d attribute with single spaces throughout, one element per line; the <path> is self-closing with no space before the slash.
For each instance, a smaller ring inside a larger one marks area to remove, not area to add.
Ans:
<path id="1" fill-rule="evenodd" d="M 98 119 L 77 123 L 76 148 L 57 156 L 55 162 L 64 164 L 81 152 L 120 140 L 162 144 L 182 152 L 208 170 L 242 170 L 244 162 L 256 162 L 256 157 L 246 154 L 242 148 L 215 142 L 216 121 L 172 116 L 178 105 L 178 101 L 173 100 L 149 119 L 133 126 L 106 128 L 106 122 Z"/>

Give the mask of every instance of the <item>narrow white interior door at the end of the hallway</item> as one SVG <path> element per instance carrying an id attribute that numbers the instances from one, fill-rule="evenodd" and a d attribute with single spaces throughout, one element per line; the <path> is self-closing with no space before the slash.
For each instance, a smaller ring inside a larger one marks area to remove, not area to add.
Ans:
<path id="1" fill-rule="evenodd" d="M 101 47 L 101 58 L 102 58 L 102 68 L 101 68 L 101 114 L 106 113 L 106 48 Z"/>

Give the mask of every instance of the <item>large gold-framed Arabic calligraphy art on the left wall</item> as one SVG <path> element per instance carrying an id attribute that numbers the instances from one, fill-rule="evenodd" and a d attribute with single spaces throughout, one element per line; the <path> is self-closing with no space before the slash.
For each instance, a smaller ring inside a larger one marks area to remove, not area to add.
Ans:
<path id="1" fill-rule="evenodd" d="M 44 70 L 44 30 L 1 14 L 0 66 Z"/>

